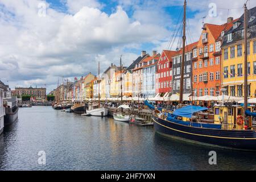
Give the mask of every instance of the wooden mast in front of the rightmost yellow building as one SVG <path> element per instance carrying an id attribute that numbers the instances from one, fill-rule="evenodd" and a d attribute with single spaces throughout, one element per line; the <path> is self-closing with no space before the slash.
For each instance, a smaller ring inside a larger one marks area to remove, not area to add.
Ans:
<path id="1" fill-rule="evenodd" d="M 247 110 L 247 7 L 246 7 L 246 3 L 244 5 L 244 9 L 245 9 L 245 13 L 243 14 L 243 23 L 244 23 L 244 27 L 245 27 L 245 32 L 244 32 L 244 42 L 245 42 L 245 100 L 244 100 L 244 109 L 243 109 L 243 113 L 244 113 L 244 116 L 245 116 L 245 111 Z"/>

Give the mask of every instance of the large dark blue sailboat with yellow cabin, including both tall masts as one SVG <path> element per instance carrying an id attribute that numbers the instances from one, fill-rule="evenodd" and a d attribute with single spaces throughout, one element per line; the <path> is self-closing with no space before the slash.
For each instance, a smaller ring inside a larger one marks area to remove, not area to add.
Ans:
<path id="1" fill-rule="evenodd" d="M 184 64 L 185 45 L 185 9 L 183 18 L 183 56 L 181 64 Z M 247 7 L 245 4 L 245 32 L 247 32 Z M 246 34 L 245 34 L 246 35 Z M 244 36 L 245 44 L 245 65 L 247 65 L 247 36 Z M 183 66 L 181 66 L 181 69 Z M 183 71 L 181 70 L 181 73 Z M 181 75 L 181 85 L 183 74 Z M 245 85 L 247 85 L 247 68 L 245 67 Z M 214 118 L 202 121 L 200 113 L 207 113 L 207 107 L 188 105 L 181 109 L 176 109 L 174 113 L 163 113 L 148 102 L 144 102 L 153 111 L 152 119 L 157 133 L 171 138 L 185 140 L 187 142 L 204 144 L 213 147 L 221 147 L 236 150 L 256 150 L 256 129 L 252 125 L 252 106 L 247 106 L 247 87 L 245 86 L 245 105 L 226 105 L 224 100 L 221 106 L 214 106 Z M 224 92 L 224 90 L 223 90 Z M 183 93 L 183 86 L 180 87 Z M 222 93 L 223 95 L 224 93 Z M 183 94 L 180 94 L 180 103 Z M 202 115 L 201 115 L 202 116 Z"/>

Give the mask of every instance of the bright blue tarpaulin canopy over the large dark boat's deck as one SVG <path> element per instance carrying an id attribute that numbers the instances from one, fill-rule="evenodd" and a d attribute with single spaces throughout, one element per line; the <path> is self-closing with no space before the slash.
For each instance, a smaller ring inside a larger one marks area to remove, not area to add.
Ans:
<path id="1" fill-rule="evenodd" d="M 208 108 L 189 105 L 189 106 L 182 107 L 181 109 L 176 109 L 174 111 L 174 115 L 179 115 L 185 118 L 191 118 L 193 113 L 204 111 L 204 110 L 208 110 Z"/>

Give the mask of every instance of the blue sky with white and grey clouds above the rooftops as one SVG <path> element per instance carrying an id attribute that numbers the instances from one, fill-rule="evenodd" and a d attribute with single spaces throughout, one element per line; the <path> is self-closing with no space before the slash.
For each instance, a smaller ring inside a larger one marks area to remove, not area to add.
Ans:
<path id="1" fill-rule="evenodd" d="M 46 86 L 97 74 L 111 63 L 129 66 L 142 50 L 175 49 L 172 39 L 183 0 L 0 0 L 0 80 L 16 86 Z M 188 0 L 187 44 L 205 23 L 239 18 L 245 0 Z M 256 6 L 249 1 L 248 8 Z M 203 19 L 203 17 L 205 17 Z M 176 37 L 176 36 L 174 36 Z M 178 36 L 177 36 L 178 37 Z"/>

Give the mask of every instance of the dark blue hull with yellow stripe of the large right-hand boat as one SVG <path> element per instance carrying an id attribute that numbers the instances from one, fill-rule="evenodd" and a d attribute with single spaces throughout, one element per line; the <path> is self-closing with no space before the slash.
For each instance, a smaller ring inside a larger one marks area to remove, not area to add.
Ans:
<path id="1" fill-rule="evenodd" d="M 256 151 L 255 130 L 219 130 L 180 125 L 152 116 L 158 133 L 215 147 Z"/>

